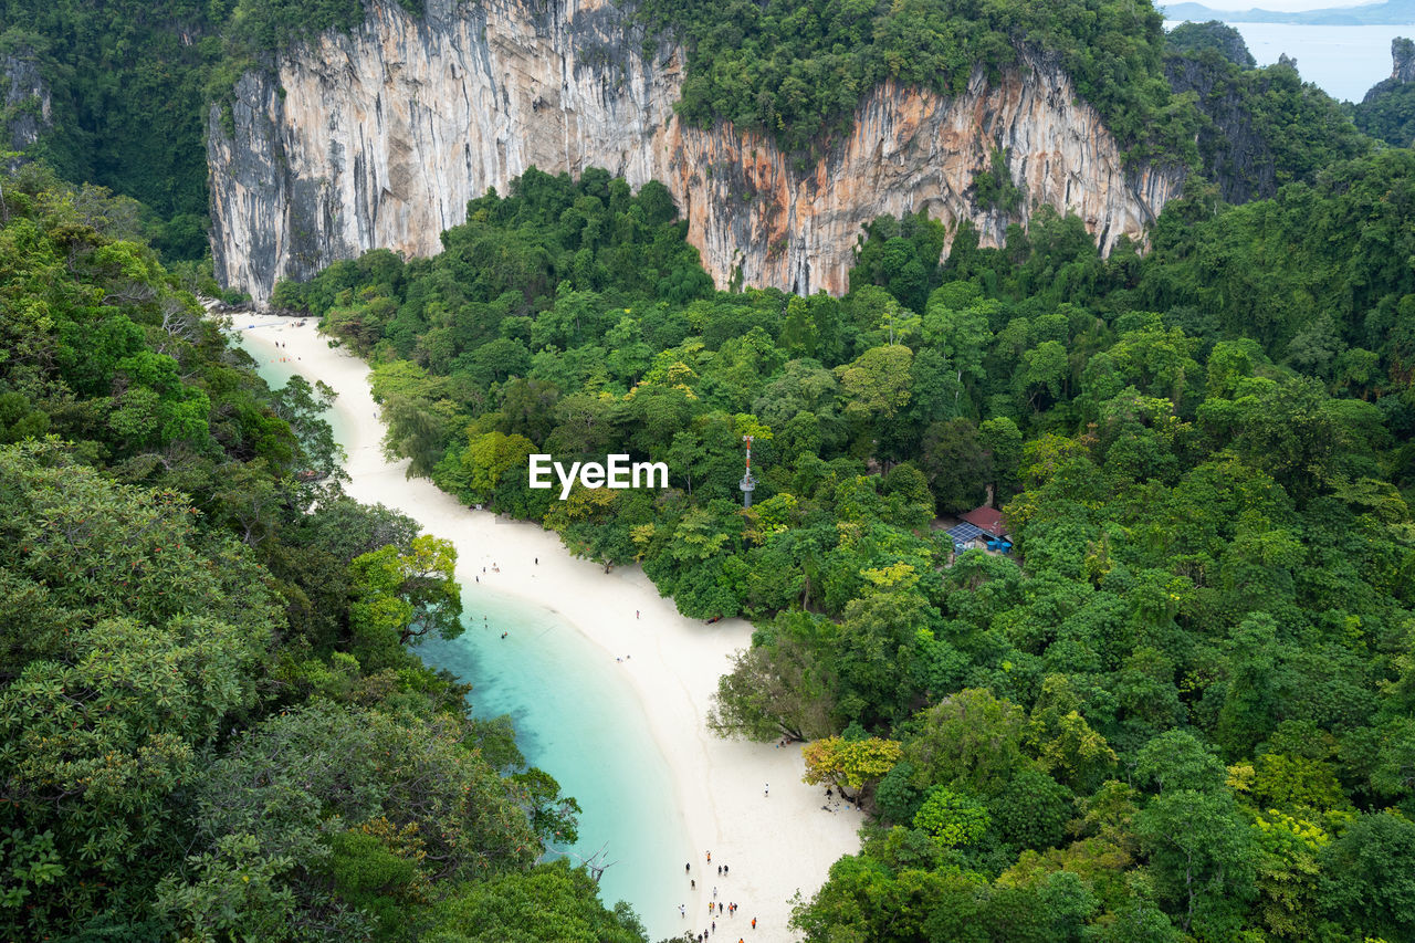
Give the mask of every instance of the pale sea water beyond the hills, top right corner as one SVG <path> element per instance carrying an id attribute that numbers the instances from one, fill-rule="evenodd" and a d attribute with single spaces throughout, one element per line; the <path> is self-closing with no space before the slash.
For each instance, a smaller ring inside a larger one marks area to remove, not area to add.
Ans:
<path id="1" fill-rule="evenodd" d="M 1177 21 L 1165 21 L 1166 30 L 1176 25 Z M 1228 25 L 1242 34 L 1258 65 L 1272 65 L 1279 55 L 1286 54 L 1298 61 L 1298 72 L 1303 81 L 1316 84 L 1332 98 L 1344 102 L 1360 102 L 1373 85 L 1391 76 L 1391 40 L 1415 38 L 1415 25 Z"/>

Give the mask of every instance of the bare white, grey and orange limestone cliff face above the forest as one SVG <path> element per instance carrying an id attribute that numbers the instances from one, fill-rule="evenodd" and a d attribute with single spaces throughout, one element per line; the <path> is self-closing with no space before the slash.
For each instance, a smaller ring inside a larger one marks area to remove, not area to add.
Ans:
<path id="1" fill-rule="evenodd" d="M 354 34 L 327 34 L 252 72 L 229 113 L 212 108 L 208 163 L 218 278 L 269 297 L 371 248 L 429 255 L 467 200 L 526 167 L 604 167 L 631 185 L 664 181 L 719 286 L 795 292 L 846 286 L 860 225 L 925 210 L 983 245 L 1049 204 L 1085 219 L 1104 251 L 1142 238 L 1183 183 L 1179 168 L 1128 170 L 1070 79 L 1037 57 L 965 93 L 883 85 L 849 137 L 801 166 L 730 125 L 683 126 L 672 103 L 683 54 L 597 0 L 429 0 L 422 20 L 375 7 Z M 974 177 L 1003 149 L 1023 208 L 976 205 Z"/>

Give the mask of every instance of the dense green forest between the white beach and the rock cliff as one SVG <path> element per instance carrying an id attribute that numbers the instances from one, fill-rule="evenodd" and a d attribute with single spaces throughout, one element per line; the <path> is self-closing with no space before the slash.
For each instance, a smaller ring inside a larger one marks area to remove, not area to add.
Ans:
<path id="1" fill-rule="evenodd" d="M 808 940 L 1394 940 L 1415 910 L 1361 902 L 1415 864 L 1412 170 L 1197 187 L 1145 256 L 1043 211 L 938 265 L 941 224 L 882 218 L 842 299 L 713 292 L 657 184 L 529 171 L 439 256 L 277 297 L 374 361 L 420 473 L 756 620 L 709 725 L 821 738 L 874 813 Z M 669 487 L 562 503 L 533 452 Z M 1013 556 L 955 559 L 935 514 L 989 486 Z"/>

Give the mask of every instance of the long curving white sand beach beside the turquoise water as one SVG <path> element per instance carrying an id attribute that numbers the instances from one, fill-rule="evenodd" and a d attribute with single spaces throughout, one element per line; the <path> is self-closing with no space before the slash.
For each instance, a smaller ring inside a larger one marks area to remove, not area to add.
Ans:
<path id="1" fill-rule="evenodd" d="M 335 409 L 351 430 L 347 491 L 352 497 L 396 508 L 426 532 L 454 541 L 463 585 L 480 576 L 492 589 L 549 606 L 607 656 L 627 656 L 623 670 L 642 708 L 642 722 L 664 753 L 678 807 L 688 821 L 691 847 L 683 848 L 678 874 L 692 862 L 698 879 L 698 889 L 689 891 L 683 876 L 681 899 L 664 902 L 676 923 L 658 913 L 652 925 L 669 923 L 693 933 L 706 929 L 708 902 L 716 885 L 719 899 L 736 901 L 740 909 L 736 918 L 717 918 L 713 940 L 795 939 L 787 929 L 790 898 L 797 891 L 802 896 L 814 893 L 831 864 L 859 848 L 856 828 L 862 816 L 849 807 L 822 810 L 824 789 L 801 782 L 804 765 L 797 746 L 722 741 L 706 729 L 717 677 L 727 670 L 732 653 L 749 646 L 751 626 L 741 619 L 712 626 L 685 619 L 671 599 L 659 598 L 638 566 L 606 573 L 603 566 L 570 556 L 552 531 L 474 511 L 426 479 L 405 479 L 406 462 L 383 457 L 383 429 L 364 361 L 330 348 L 314 320 L 294 327 L 289 319 L 238 314 L 235 324 L 258 326 L 248 333 L 252 353 L 290 358 L 308 379 L 323 379 L 335 389 Z M 492 572 L 492 565 L 499 572 Z M 770 796 L 763 794 L 767 783 Z M 706 851 L 712 851 L 712 865 L 705 861 Z M 729 865 L 729 878 L 717 879 L 719 864 Z M 686 919 L 678 918 L 679 903 L 688 908 Z"/>

